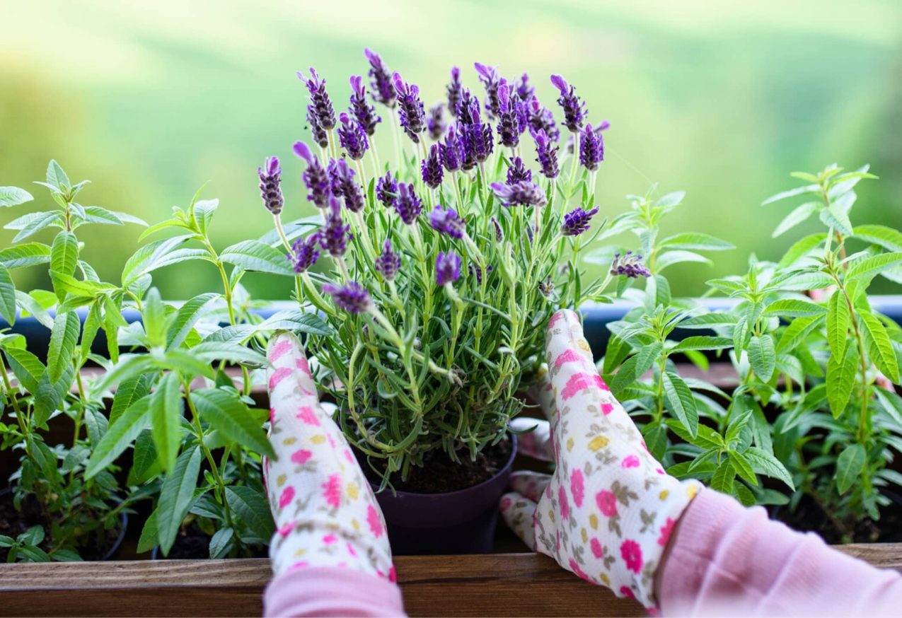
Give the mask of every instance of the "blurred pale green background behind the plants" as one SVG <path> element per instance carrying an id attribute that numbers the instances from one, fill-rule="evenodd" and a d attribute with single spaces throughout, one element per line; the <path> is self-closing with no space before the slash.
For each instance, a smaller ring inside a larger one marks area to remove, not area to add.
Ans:
<path id="1" fill-rule="evenodd" d="M 759 206 L 793 186 L 789 171 L 870 162 L 881 180 L 862 185 L 852 221 L 902 226 L 897 0 L 29 0 L 0 5 L 0 23 L 0 185 L 37 198 L 0 212 L 4 224 L 50 204 L 31 181 L 51 158 L 72 180 L 93 180 L 82 204 L 150 223 L 207 182 L 204 196 L 221 200 L 214 235 L 225 247 L 269 229 L 255 171 L 278 154 L 287 217 L 308 215 L 303 168 L 290 154 L 308 136 L 295 71 L 316 67 L 344 107 L 347 76 L 365 74 L 369 46 L 419 83 L 427 106 L 444 99 L 455 64 L 474 88 L 474 60 L 506 76 L 529 71 L 548 106 L 548 74 L 562 73 L 590 118 L 612 123 L 599 177 L 604 214 L 657 181 L 661 192 L 688 191 L 666 232 L 707 232 L 738 246 L 717 254 L 713 268 L 671 271 L 679 295 L 743 270 L 752 252 L 778 257 L 798 237 L 770 238 L 788 204 Z M 138 234 L 135 226 L 79 231 L 84 255 L 110 281 Z M 12 236 L 0 232 L 0 245 Z M 16 276 L 20 288 L 47 285 L 37 274 Z M 217 284 L 204 265 L 155 279 L 173 299 Z M 287 280 L 244 281 L 264 298 L 289 293 Z"/>

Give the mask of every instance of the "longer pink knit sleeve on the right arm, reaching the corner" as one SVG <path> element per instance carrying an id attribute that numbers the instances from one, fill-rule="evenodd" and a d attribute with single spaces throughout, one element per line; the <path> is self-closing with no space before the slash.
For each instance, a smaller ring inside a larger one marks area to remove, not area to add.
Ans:
<path id="1" fill-rule="evenodd" d="M 659 585 L 665 615 L 899 615 L 902 576 L 704 490 L 686 509 Z"/>

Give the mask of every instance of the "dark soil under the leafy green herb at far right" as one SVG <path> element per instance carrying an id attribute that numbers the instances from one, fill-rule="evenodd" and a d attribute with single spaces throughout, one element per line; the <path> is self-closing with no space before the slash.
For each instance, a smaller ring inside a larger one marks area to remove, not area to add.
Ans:
<path id="1" fill-rule="evenodd" d="M 824 509 L 810 496 L 799 501 L 795 512 L 786 507 L 775 509 L 771 517 L 783 521 L 794 530 L 816 532 L 831 544 L 846 542 L 842 532 L 830 521 Z M 858 521 L 852 533 L 854 543 L 898 543 L 902 542 L 902 504 L 892 503 L 880 510 L 879 521 L 865 519 Z"/>

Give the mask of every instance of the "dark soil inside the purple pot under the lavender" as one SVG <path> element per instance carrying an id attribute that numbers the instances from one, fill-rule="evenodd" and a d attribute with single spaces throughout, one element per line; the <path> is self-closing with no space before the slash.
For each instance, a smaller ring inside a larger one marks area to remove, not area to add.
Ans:
<path id="1" fill-rule="evenodd" d="M 357 457 L 364 469 L 366 478 L 374 484 L 380 484 L 382 478 L 366 462 L 366 457 L 359 452 Z M 434 449 L 423 456 L 423 466 L 410 466 L 407 479 L 400 480 L 400 475 L 391 477 L 395 491 L 411 493 L 446 493 L 456 492 L 467 487 L 483 483 L 508 463 L 511 458 L 511 440 L 506 438 L 496 445 L 490 445 L 470 459 L 468 452 L 460 454 L 460 461 L 452 461 L 451 457 L 441 449 Z M 382 460 L 373 459 L 374 466 L 382 465 Z"/>

